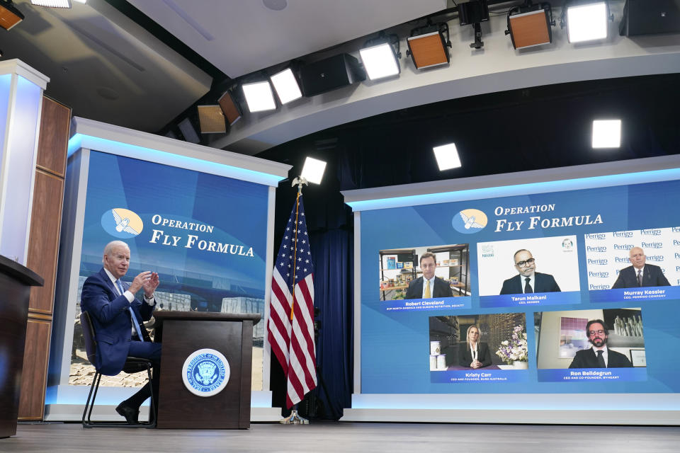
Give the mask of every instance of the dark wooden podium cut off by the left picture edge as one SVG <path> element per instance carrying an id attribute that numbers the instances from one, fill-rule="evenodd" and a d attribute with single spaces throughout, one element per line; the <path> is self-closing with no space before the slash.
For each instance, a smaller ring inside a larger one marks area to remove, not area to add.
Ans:
<path id="1" fill-rule="evenodd" d="M 30 287 L 42 277 L 0 256 L 0 437 L 16 434 Z"/>

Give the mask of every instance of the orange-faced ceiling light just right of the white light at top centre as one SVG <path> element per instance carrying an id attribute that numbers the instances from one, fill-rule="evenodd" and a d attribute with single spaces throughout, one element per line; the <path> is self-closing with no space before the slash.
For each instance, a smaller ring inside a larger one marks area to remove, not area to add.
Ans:
<path id="1" fill-rule="evenodd" d="M 441 66 L 450 61 L 446 47 L 451 47 L 451 42 L 448 39 L 448 24 L 445 22 L 432 25 L 428 19 L 424 27 L 411 30 L 406 43 L 409 46 L 406 55 L 411 56 L 416 69 Z"/>

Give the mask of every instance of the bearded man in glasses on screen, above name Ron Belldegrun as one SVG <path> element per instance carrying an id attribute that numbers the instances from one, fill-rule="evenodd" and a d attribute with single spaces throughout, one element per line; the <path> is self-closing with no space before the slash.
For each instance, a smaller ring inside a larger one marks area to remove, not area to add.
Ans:
<path id="1" fill-rule="evenodd" d="M 628 368 L 633 366 L 628 357 L 621 352 L 607 348 L 609 329 L 601 319 L 588 321 L 586 335 L 593 347 L 578 351 L 569 365 L 570 368 Z"/>

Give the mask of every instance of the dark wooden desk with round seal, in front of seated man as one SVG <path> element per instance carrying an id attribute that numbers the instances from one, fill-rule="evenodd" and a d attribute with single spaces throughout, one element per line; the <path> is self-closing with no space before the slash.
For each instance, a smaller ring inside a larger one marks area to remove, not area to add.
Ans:
<path id="1" fill-rule="evenodd" d="M 250 428 L 253 326 L 260 315 L 155 311 L 154 317 L 155 340 L 163 344 L 157 428 Z M 191 393 L 182 376 L 186 359 L 203 348 L 229 362 L 227 385 L 212 396 Z"/>

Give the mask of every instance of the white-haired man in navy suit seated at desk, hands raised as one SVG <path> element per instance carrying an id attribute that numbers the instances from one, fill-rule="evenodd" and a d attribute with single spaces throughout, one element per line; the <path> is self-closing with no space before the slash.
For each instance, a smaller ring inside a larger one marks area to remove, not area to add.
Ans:
<path id="1" fill-rule="evenodd" d="M 154 392 L 158 405 L 158 376 L 161 345 L 149 340 L 143 321 L 151 319 L 156 306 L 154 292 L 158 274 L 145 271 L 128 283 L 120 280 L 130 266 L 130 248 L 123 241 L 113 241 L 104 248 L 103 268 L 87 277 L 81 295 L 81 310 L 90 314 L 97 340 L 96 367 L 102 374 L 115 376 L 123 369 L 128 356 L 152 360 L 152 382 L 123 401 L 115 411 L 128 423 L 137 423 L 140 406 Z M 144 302 L 135 293 L 144 289 Z"/>

